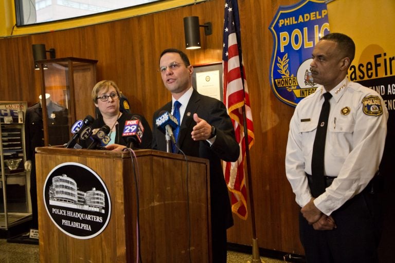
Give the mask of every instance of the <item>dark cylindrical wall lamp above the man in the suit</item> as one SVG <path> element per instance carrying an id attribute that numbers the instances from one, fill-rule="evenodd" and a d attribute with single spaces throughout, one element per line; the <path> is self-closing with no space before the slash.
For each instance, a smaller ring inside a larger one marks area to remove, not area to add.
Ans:
<path id="1" fill-rule="evenodd" d="M 204 25 L 199 25 L 199 16 L 184 17 L 184 35 L 185 35 L 185 48 L 196 49 L 201 48 L 200 42 L 200 27 L 204 27 L 204 34 L 212 34 L 211 22 Z"/>

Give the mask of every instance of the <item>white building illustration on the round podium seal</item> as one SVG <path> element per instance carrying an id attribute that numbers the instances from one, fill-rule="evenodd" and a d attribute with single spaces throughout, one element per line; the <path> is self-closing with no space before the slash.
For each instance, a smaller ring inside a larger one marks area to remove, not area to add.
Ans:
<path id="1" fill-rule="evenodd" d="M 91 191 L 79 191 L 76 181 L 65 174 L 52 178 L 48 196 L 51 205 L 105 213 L 105 195 L 102 191 L 95 187 Z"/>

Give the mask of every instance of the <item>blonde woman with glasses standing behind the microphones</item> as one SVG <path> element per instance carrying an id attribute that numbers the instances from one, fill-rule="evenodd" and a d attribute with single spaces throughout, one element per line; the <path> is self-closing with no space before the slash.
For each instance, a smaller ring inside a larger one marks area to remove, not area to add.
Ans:
<path id="1" fill-rule="evenodd" d="M 92 100 L 99 109 L 100 116 L 91 125 L 92 129 L 101 128 L 107 125 L 110 127 L 110 132 L 107 134 L 110 138 L 110 142 L 107 145 L 117 144 L 126 146 L 128 145 L 128 138 L 130 139 L 130 137 L 122 136 L 125 122 L 137 117 L 142 124 L 143 133 L 141 136 L 141 143 L 135 141 L 133 146 L 140 149 L 151 148 L 152 132 L 146 118 L 139 114 L 120 111 L 119 95 L 120 90 L 114 81 L 102 80 L 96 83 L 92 90 Z M 87 139 L 82 141 L 81 144 L 87 147 L 91 142 L 91 139 Z"/>

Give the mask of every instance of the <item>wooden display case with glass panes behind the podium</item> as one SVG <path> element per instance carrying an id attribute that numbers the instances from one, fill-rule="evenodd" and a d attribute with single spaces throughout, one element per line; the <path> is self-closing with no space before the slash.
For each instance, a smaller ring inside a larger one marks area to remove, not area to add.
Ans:
<path id="1" fill-rule="evenodd" d="M 71 126 L 77 120 L 95 116 L 91 92 L 96 84 L 97 60 L 61 58 L 36 63 L 42 84 L 44 143 L 61 145 L 69 140 Z"/>

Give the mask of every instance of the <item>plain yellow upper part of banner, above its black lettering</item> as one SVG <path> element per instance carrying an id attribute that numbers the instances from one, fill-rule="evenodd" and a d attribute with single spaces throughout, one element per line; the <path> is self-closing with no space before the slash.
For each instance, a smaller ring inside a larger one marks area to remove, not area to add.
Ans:
<path id="1" fill-rule="evenodd" d="M 355 42 L 353 65 L 372 61 L 374 54 L 395 55 L 394 13 L 394 0 L 335 0 L 328 4 L 331 32 L 349 35 Z M 378 70 L 376 78 L 386 77 L 384 65 Z"/>

